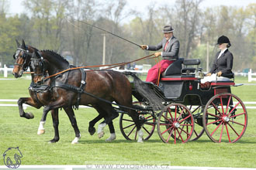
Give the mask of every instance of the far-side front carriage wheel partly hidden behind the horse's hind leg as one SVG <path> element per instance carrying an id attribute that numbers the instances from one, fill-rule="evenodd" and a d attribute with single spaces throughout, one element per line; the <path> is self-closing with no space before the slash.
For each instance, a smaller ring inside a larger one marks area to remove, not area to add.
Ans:
<path id="1" fill-rule="evenodd" d="M 133 104 L 141 105 L 141 102 L 133 102 Z M 140 114 L 140 112 L 138 112 Z M 141 128 L 144 132 L 144 141 L 149 139 L 154 133 L 156 119 L 150 114 L 140 114 L 140 117 L 144 117 L 147 121 Z M 119 127 L 124 138 L 127 140 L 137 140 L 137 127 L 133 119 L 128 114 L 121 114 L 119 118 Z"/>

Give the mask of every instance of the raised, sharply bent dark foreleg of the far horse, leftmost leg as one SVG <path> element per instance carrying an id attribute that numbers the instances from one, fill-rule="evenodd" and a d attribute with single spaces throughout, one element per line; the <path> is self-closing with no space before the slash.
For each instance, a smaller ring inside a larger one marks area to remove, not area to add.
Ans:
<path id="1" fill-rule="evenodd" d="M 42 107 L 41 104 L 38 104 L 37 102 L 35 102 L 31 97 L 20 97 L 18 100 L 19 116 L 25 117 L 27 119 L 33 119 L 34 115 L 32 113 L 24 112 L 22 104 L 28 104 L 29 106 L 36 107 L 37 109 Z"/>

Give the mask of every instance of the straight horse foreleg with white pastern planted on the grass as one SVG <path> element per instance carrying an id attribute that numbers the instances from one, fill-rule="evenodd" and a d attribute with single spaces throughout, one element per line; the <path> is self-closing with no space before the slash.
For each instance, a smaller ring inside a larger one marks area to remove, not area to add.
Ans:
<path id="1" fill-rule="evenodd" d="M 78 144 L 78 141 L 81 138 L 81 134 L 78 129 L 78 124 L 74 116 L 74 110 L 72 109 L 72 107 L 64 107 L 64 110 L 66 111 L 67 116 L 71 121 L 72 127 L 74 128 L 75 138 L 71 144 Z"/>

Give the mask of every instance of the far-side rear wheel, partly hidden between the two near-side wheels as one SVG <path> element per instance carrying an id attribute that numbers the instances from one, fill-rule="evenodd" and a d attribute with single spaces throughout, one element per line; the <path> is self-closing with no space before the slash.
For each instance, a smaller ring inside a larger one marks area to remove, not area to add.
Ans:
<path id="1" fill-rule="evenodd" d="M 196 141 L 198 140 L 202 134 L 205 132 L 205 129 L 202 125 L 202 112 L 203 112 L 203 106 L 186 106 L 189 108 L 191 113 L 193 114 L 194 120 L 195 120 L 195 128 L 192 135 L 192 138 L 190 138 L 190 141 Z"/>

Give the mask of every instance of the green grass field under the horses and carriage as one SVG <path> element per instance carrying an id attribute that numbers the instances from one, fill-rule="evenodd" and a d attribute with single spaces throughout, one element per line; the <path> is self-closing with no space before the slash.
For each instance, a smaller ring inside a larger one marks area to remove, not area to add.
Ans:
<path id="1" fill-rule="evenodd" d="M 243 83 L 244 77 L 237 78 L 236 83 Z M 18 99 L 29 97 L 27 88 L 29 80 L 0 80 L 0 99 Z M 247 83 L 247 82 L 244 82 Z M 232 87 L 232 93 L 243 101 L 256 101 L 256 86 Z M 0 104 L 3 104 L 3 102 Z M 6 104 L 6 102 L 5 102 Z M 9 103 L 12 104 L 12 103 Z M 216 144 L 203 134 L 198 141 L 186 144 L 166 145 L 158 137 L 157 131 L 143 144 L 126 141 L 119 130 L 119 117 L 114 121 L 117 138 L 106 143 L 105 136 L 88 134 L 88 122 L 97 115 L 94 109 L 75 110 L 81 140 L 78 145 L 71 145 L 74 131 L 67 115 L 60 112 L 60 136 L 56 144 L 47 141 L 54 137 L 51 116 L 48 114 L 46 133 L 37 135 L 43 108 L 37 110 L 28 107 L 35 115 L 33 120 L 19 117 L 18 107 L 0 107 L 0 155 L 9 147 L 19 146 L 22 151 L 22 165 L 85 165 L 85 164 L 131 164 L 131 165 L 172 165 L 172 166 L 210 166 L 210 167 L 244 167 L 256 168 L 256 113 L 247 109 L 248 126 L 243 138 L 237 143 Z M 98 124 L 96 124 L 98 127 Z M 0 165 L 4 165 L 2 156 Z"/>

